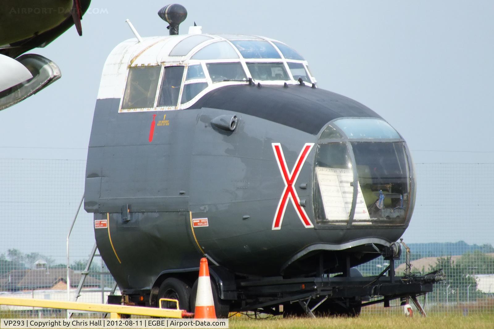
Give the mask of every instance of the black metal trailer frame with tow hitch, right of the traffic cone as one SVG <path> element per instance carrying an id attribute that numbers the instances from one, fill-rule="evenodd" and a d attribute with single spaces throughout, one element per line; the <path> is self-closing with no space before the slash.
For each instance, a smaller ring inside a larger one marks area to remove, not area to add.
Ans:
<path id="1" fill-rule="evenodd" d="M 402 305 L 412 300 L 421 315 L 425 317 L 426 313 L 417 296 L 432 292 L 433 284 L 444 280 L 445 275 L 442 270 L 425 275 L 412 274 L 410 248 L 403 241 L 401 243 L 406 250 L 406 270 L 403 276 L 396 276 L 395 272 L 395 260 L 399 258 L 401 252 L 389 248 L 381 251 L 384 259 L 389 261 L 389 265 L 377 276 L 352 277 L 347 257 L 347 267 L 341 276 L 329 277 L 321 270 L 317 270 L 318 275 L 309 278 L 241 279 L 236 280 L 235 291 L 224 291 L 223 294 L 225 296 L 233 294 L 235 299 L 241 300 L 240 305 L 232 307 L 232 311 L 237 312 L 256 310 L 280 315 L 283 314 L 285 306 L 295 303 L 301 308 L 298 309 L 299 312 L 315 317 L 318 308 L 329 302 L 347 310 L 351 309 L 351 305 L 359 305 L 360 312 L 360 307 L 378 303 L 389 307 L 391 300 L 399 298 Z"/>

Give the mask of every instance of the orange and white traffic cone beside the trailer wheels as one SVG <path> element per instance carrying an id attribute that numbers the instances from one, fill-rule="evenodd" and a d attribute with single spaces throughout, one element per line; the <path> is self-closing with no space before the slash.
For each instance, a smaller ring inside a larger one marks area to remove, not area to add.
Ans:
<path id="1" fill-rule="evenodd" d="M 199 267 L 199 281 L 197 283 L 196 310 L 194 319 L 216 319 L 214 310 L 213 292 L 211 281 L 209 279 L 209 268 L 207 267 L 207 258 L 201 258 Z"/>

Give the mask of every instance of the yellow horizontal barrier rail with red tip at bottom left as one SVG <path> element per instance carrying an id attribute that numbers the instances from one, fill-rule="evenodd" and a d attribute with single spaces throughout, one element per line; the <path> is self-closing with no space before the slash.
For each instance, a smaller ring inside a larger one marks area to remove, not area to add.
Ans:
<path id="1" fill-rule="evenodd" d="M 162 300 L 176 302 L 177 308 L 176 309 L 161 308 Z M 175 318 L 175 319 L 191 317 L 194 315 L 193 313 L 189 313 L 186 310 L 180 310 L 178 308 L 178 300 L 165 299 L 165 298 L 160 299 L 160 308 L 113 305 L 113 304 L 80 303 L 77 301 L 12 298 L 12 297 L 0 297 L 0 305 L 56 308 L 62 310 L 78 310 L 78 311 L 89 311 L 89 312 L 97 312 L 97 313 L 110 313 L 110 317 L 112 319 L 120 318 L 121 314 L 160 317 L 160 318 Z"/>

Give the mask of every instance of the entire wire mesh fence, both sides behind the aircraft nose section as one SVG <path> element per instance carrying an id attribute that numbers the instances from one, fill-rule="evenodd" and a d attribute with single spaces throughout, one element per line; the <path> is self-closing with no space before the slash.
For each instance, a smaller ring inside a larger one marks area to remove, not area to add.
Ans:
<path id="1" fill-rule="evenodd" d="M 426 311 L 494 313 L 494 164 L 419 163 L 415 168 L 415 211 L 404 234 L 412 273 L 442 268 L 447 276 L 424 298 Z M 107 272 L 101 259 L 95 257 L 84 274 L 94 233 L 92 215 L 83 210 L 70 237 L 67 290 L 66 239 L 82 198 L 84 170 L 83 160 L 0 159 L 0 295 L 67 300 L 69 291 L 74 300 L 80 289 L 80 301 L 106 300 L 114 282 L 98 274 Z M 397 261 L 398 272 L 405 270 L 404 261 L 404 256 Z M 379 257 L 359 269 L 377 275 L 387 265 Z M 0 306 L 0 312 L 17 311 L 59 314 Z M 403 312 L 382 304 L 364 308 L 393 311 Z"/>

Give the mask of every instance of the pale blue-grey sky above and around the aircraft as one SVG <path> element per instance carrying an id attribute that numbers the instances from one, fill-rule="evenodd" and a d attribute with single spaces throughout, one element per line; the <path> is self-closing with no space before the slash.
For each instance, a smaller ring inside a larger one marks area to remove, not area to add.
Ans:
<path id="1" fill-rule="evenodd" d="M 363 103 L 394 126 L 415 163 L 494 163 L 494 1 L 179 3 L 188 10 L 182 34 L 196 22 L 204 33 L 286 42 L 308 61 L 318 87 Z M 125 19 L 143 37 L 167 35 L 157 15 L 166 4 L 93 0 L 82 37 L 72 27 L 31 50 L 57 63 L 62 78 L 0 111 L 0 158 L 84 160 L 104 62 L 119 42 L 133 37 Z M 431 179 L 419 183 L 432 186 L 434 173 L 424 177 Z M 422 191 L 427 193 L 433 192 Z M 493 199 L 492 189 L 485 193 Z M 412 219 L 412 238 L 426 215 L 415 226 Z"/>

